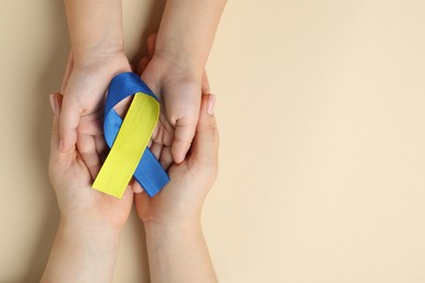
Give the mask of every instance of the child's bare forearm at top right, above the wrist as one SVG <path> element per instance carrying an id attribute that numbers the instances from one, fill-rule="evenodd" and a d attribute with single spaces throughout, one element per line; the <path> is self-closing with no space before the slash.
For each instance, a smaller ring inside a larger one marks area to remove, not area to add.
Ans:
<path id="1" fill-rule="evenodd" d="M 155 53 L 202 75 L 224 5 L 226 0 L 168 0 Z"/>

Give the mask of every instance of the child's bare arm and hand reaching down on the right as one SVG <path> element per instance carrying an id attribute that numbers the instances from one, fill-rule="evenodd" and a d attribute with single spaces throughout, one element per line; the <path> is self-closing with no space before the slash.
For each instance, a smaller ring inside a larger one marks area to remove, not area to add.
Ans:
<path id="1" fill-rule="evenodd" d="M 204 69 L 224 5 L 226 0 L 168 0 L 155 52 L 142 74 L 160 96 L 163 121 L 173 130 L 175 163 L 183 162 L 195 134 Z"/>

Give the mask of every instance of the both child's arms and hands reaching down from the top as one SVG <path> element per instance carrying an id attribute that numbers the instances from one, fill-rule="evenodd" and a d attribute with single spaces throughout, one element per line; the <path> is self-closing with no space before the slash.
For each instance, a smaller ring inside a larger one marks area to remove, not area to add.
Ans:
<path id="1" fill-rule="evenodd" d="M 204 66 L 224 4 L 226 0 L 167 1 L 155 52 L 142 75 L 162 101 L 159 134 L 153 143 L 165 164 L 183 162 L 191 147 Z M 123 52 L 121 0 L 65 0 L 65 8 L 71 56 L 62 87 L 59 147 L 66 152 L 77 145 L 95 176 L 100 164 L 96 155 L 102 150 L 96 137 L 101 133 L 98 113 L 105 91 L 114 75 L 131 70 Z M 127 103 L 116 110 L 125 113 Z"/>

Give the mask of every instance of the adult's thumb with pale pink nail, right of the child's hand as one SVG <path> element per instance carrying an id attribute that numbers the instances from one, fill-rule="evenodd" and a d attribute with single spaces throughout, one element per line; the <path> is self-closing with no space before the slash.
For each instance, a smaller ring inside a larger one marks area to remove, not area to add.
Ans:
<path id="1" fill-rule="evenodd" d="M 214 116 L 215 103 L 216 97 L 214 95 L 203 95 L 199 121 L 189 159 L 193 168 L 203 168 L 204 164 L 216 168 L 218 165 L 219 134 Z"/>

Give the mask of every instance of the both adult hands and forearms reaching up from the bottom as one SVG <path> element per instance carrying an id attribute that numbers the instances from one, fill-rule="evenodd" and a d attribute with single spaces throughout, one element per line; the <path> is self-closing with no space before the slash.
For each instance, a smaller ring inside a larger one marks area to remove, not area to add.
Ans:
<path id="1" fill-rule="evenodd" d="M 203 97 L 190 155 L 170 168 L 171 182 L 155 198 L 135 195 L 146 229 L 151 282 L 217 282 L 201 229 L 202 207 L 218 170 L 214 101 L 214 96 Z M 80 151 L 59 148 L 62 96 L 52 95 L 51 104 L 49 176 L 61 220 L 41 282 L 111 282 L 132 189 L 120 200 L 90 188 L 89 169 Z"/>

